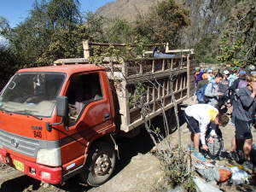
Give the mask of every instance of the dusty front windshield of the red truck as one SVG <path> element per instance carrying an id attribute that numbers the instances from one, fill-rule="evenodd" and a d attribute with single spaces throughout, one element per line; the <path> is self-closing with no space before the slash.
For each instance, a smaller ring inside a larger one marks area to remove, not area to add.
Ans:
<path id="1" fill-rule="evenodd" d="M 50 117 L 64 73 L 16 73 L 0 96 L 0 110 Z"/>

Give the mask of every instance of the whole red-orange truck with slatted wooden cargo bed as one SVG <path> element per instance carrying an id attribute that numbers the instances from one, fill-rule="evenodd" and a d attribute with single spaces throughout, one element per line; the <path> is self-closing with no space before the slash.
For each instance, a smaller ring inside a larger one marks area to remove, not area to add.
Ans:
<path id="1" fill-rule="evenodd" d="M 141 108 L 131 104 L 138 83 L 146 91 L 147 119 L 173 107 L 171 84 L 177 103 L 192 92 L 189 54 L 104 67 L 84 59 L 60 62 L 19 70 L 0 95 L 0 161 L 46 183 L 80 174 L 98 186 L 111 177 L 114 137 L 144 123 Z"/>

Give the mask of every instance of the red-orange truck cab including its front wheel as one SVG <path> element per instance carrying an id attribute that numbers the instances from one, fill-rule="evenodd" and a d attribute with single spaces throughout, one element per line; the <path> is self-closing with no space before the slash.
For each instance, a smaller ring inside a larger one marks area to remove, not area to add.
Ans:
<path id="1" fill-rule="evenodd" d="M 80 172 L 97 186 L 113 172 L 115 152 L 105 142 L 115 131 L 113 119 L 103 67 L 21 69 L 0 95 L 0 160 L 47 183 Z"/>

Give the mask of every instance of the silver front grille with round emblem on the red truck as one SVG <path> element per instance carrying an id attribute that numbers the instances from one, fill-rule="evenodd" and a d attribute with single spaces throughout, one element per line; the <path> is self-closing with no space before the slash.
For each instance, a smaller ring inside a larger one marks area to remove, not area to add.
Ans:
<path id="1" fill-rule="evenodd" d="M 32 157 L 36 157 L 38 149 L 40 148 L 40 141 L 38 139 L 20 137 L 3 130 L 0 130 L 0 144 L 5 148 Z"/>

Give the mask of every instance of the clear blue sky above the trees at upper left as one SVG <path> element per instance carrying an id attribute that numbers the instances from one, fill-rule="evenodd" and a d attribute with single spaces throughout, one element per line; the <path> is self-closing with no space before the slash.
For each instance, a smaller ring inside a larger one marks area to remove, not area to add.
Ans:
<path id="1" fill-rule="evenodd" d="M 79 0 L 81 4 L 81 11 L 92 11 L 102 7 L 102 5 L 113 2 L 114 0 Z M 0 16 L 9 20 L 11 27 L 19 24 L 20 21 L 25 20 L 32 9 L 32 4 L 35 0 L 2 0 L 0 2 Z M 40 2 L 40 0 L 38 0 Z"/>

